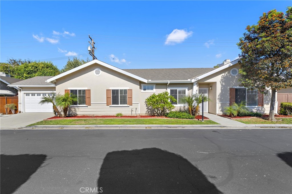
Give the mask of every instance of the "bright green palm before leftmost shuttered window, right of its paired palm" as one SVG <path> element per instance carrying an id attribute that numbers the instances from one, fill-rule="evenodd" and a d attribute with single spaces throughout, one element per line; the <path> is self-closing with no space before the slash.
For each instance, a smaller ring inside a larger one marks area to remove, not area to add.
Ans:
<path id="1" fill-rule="evenodd" d="M 69 106 L 78 102 L 77 96 L 69 93 L 56 96 L 56 105 L 63 109 L 64 117 L 67 117 Z"/>

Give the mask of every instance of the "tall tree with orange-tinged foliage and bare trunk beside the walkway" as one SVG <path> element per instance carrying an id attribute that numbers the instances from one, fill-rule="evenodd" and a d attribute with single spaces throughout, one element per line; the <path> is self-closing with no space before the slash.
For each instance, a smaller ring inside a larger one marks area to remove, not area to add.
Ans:
<path id="1" fill-rule="evenodd" d="M 256 25 L 237 43 L 241 54 L 241 86 L 267 94 L 271 89 L 268 120 L 275 121 L 276 91 L 292 86 L 292 7 L 286 14 L 271 10 L 263 13 Z"/>

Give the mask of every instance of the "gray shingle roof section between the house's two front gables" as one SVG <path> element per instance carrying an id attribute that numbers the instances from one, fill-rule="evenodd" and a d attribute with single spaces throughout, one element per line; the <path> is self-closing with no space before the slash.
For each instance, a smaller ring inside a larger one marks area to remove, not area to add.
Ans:
<path id="1" fill-rule="evenodd" d="M 216 68 L 124 69 L 148 80 L 188 80 Z"/>

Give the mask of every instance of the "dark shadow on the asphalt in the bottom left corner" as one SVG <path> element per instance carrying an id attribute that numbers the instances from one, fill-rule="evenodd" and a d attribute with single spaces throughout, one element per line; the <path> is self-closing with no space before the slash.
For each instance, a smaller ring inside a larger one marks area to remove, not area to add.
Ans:
<path id="1" fill-rule="evenodd" d="M 24 184 L 46 160 L 44 154 L 0 155 L 1 193 L 10 194 Z"/>

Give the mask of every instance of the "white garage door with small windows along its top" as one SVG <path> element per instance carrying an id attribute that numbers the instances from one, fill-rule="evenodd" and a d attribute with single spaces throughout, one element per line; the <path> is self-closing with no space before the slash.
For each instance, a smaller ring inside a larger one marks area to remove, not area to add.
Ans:
<path id="1" fill-rule="evenodd" d="M 52 95 L 47 93 L 25 93 L 25 112 L 47 113 L 53 112 L 53 104 L 39 104 L 42 96 Z"/>

